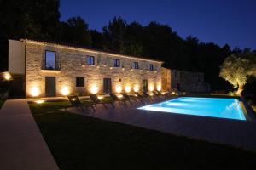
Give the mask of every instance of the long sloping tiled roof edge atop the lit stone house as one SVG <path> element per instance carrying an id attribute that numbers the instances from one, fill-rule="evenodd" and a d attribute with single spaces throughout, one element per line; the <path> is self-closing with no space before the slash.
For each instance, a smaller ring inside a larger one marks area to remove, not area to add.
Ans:
<path id="1" fill-rule="evenodd" d="M 36 44 L 41 44 L 41 45 L 51 45 L 51 46 L 57 46 L 59 48 L 70 48 L 70 49 L 77 49 L 77 50 L 85 50 L 85 51 L 92 52 L 92 53 L 102 53 L 102 54 L 108 54 L 108 55 L 124 57 L 124 58 L 142 59 L 142 60 L 148 60 L 148 61 L 151 61 L 151 62 L 157 62 L 157 63 L 161 63 L 161 64 L 164 63 L 164 61 L 157 60 L 157 59 L 151 59 L 151 58 L 148 58 L 148 57 L 131 56 L 131 55 L 126 55 L 126 54 L 113 53 L 113 52 L 109 52 L 107 50 L 101 50 L 101 49 L 96 49 L 96 48 L 78 46 L 78 45 L 67 44 L 67 43 L 63 43 L 63 42 L 41 41 L 41 40 L 32 40 L 32 39 L 20 39 L 20 42 L 36 43 Z"/>

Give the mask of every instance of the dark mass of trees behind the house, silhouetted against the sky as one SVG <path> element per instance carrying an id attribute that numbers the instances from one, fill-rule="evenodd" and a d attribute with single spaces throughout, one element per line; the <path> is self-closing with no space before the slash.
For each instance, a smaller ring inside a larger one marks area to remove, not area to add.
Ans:
<path id="1" fill-rule="evenodd" d="M 154 21 L 142 26 L 114 17 L 102 31 L 90 30 L 79 16 L 61 21 L 59 4 L 59 0 L 0 0 L 1 71 L 7 70 L 8 39 L 31 38 L 163 60 L 167 68 L 203 72 L 212 90 L 221 90 L 229 84 L 218 77 L 219 66 L 230 54 L 243 51 L 192 36 L 183 39 L 171 26 Z"/>

